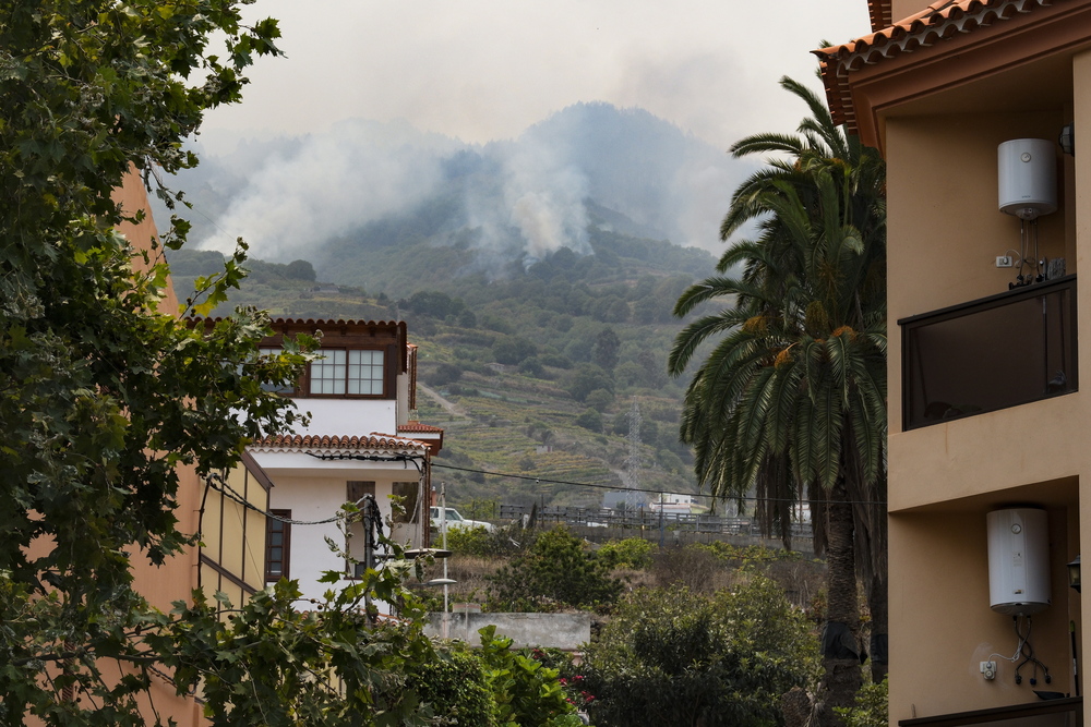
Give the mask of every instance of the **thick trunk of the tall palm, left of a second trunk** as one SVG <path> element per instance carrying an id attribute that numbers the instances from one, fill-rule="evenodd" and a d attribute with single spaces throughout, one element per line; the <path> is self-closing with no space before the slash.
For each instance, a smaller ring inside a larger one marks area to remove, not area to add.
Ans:
<path id="1" fill-rule="evenodd" d="M 823 724 L 842 725 L 831 707 L 852 706 L 861 684 L 860 605 L 853 550 L 852 504 L 843 477 L 829 493 L 826 552 L 826 625 L 823 628 L 823 667 L 826 699 Z"/>

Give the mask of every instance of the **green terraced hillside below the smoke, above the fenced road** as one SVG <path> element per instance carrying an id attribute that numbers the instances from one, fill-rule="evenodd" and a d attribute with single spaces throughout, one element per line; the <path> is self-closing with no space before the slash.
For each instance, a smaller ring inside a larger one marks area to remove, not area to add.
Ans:
<path id="1" fill-rule="evenodd" d="M 609 492 L 546 481 L 693 492 L 690 452 L 678 441 L 684 381 L 667 376 L 666 358 L 681 325 L 673 303 L 712 258 L 600 229 L 590 245 L 590 255 L 562 247 L 495 279 L 449 274 L 452 257 L 472 264 L 471 250 L 403 250 L 385 260 L 377 290 L 323 282 L 308 260 L 251 259 L 230 305 L 406 320 L 420 347 L 419 416 L 446 429 L 436 464 L 461 468 L 434 475 L 454 502 L 597 507 Z M 172 253 L 180 296 L 220 260 Z M 639 444 L 628 436 L 634 407 Z"/>

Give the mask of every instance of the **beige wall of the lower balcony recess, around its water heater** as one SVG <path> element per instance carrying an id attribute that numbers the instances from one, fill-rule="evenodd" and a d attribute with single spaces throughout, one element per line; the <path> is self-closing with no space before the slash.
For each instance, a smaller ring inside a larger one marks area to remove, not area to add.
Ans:
<path id="1" fill-rule="evenodd" d="M 1075 482 L 1070 483 L 1075 495 Z M 958 511 L 892 514 L 890 561 L 890 716 L 892 722 L 1035 701 L 1033 689 L 1065 691 L 1070 681 L 1068 509 L 1051 507 L 1050 548 L 1053 605 L 1032 617 L 1030 643 L 1050 667 L 1053 683 L 1022 667 L 1015 683 L 1018 640 L 1010 616 L 990 608 L 988 548 L 984 512 L 992 507 L 963 502 Z M 1024 627 L 1026 628 L 1026 627 Z M 998 663 L 986 681 L 980 663 Z"/>

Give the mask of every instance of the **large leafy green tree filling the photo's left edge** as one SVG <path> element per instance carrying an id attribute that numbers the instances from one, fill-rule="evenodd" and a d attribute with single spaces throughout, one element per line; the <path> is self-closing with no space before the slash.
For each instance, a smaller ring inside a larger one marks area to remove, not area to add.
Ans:
<path id="1" fill-rule="evenodd" d="M 207 109 L 240 99 L 255 54 L 277 52 L 275 21 L 245 26 L 240 4 L 9 0 L 0 12 L 3 724 L 25 713 L 144 724 L 134 695 L 151 679 L 142 659 L 154 644 L 133 634 L 199 634 L 133 593 L 131 559 L 161 564 L 191 542 L 176 529 L 179 467 L 232 467 L 249 437 L 295 416 L 261 384 L 295 380 L 304 359 L 259 358 L 267 319 L 240 312 L 197 329 L 157 313 L 161 249 L 134 271 L 133 249 L 115 232 L 141 216 L 111 197 L 127 172 L 148 182 L 193 166 L 182 140 Z M 165 244 L 177 247 L 187 228 L 177 221 Z M 190 310 L 225 300 L 243 258 L 204 278 Z M 161 664 L 180 665 L 163 651 Z M 130 665 L 132 679 L 105 682 L 106 656 Z"/>

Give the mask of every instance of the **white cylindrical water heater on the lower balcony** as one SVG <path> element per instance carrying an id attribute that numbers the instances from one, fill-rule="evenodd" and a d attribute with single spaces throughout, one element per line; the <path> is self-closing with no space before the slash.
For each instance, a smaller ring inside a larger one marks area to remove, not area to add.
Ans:
<path id="1" fill-rule="evenodd" d="M 1045 510 L 993 510 L 988 526 L 988 601 L 1000 614 L 1050 606 L 1050 533 Z"/>

